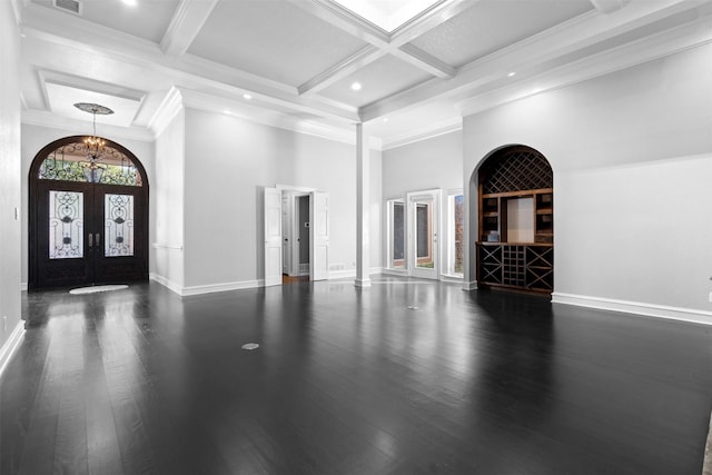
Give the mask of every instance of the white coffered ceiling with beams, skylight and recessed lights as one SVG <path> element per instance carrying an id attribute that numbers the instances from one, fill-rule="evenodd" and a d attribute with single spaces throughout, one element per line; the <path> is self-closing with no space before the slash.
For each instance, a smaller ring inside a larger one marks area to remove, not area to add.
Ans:
<path id="1" fill-rule="evenodd" d="M 71 105 L 98 101 L 142 139 L 179 95 L 389 147 L 712 40 L 712 0 L 12 1 L 23 121 L 81 130 Z"/>

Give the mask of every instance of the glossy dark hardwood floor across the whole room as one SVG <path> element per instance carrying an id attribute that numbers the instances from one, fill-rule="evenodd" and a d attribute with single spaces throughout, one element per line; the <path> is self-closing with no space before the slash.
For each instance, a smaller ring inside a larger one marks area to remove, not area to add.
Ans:
<path id="1" fill-rule="evenodd" d="M 0 472 L 701 474 L 712 327 L 375 280 L 30 294 Z"/>

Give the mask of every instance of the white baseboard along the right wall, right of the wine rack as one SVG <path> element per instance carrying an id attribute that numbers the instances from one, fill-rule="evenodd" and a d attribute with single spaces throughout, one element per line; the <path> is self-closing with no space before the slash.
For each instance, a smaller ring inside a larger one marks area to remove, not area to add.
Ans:
<path id="1" fill-rule="evenodd" d="M 552 294 L 553 304 L 575 305 L 578 307 L 596 308 L 599 310 L 623 311 L 645 317 L 668 318 L 672 320 L 691 321 L 712 325 L 712 311 L 692 308 L 670 307 L 665 305 L 645 304 L 642 301 L 617 300 L 613 298 L 590 297 L 573 294 Z"/>

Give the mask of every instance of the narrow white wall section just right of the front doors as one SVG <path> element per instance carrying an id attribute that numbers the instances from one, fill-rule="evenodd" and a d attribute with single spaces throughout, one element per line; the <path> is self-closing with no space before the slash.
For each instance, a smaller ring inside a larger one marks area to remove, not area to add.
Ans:
<path id="1" fill-rule="evenodd" d="M 185 111 L 180 110 L 156 138 L 156 174 L 151 181 L 155 239 L 152 278 L 180 291 L 185 284 Z"/>

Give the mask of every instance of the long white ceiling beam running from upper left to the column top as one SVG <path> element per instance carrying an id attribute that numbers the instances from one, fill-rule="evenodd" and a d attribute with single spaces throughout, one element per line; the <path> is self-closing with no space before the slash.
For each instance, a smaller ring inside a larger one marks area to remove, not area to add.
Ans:
<path id="1" fill-rule="evenodd" d="M 158 44 L 151 41 L 112 31 L 37 4 L 26 9 L 23 20 L 23 32 L 27 34 L 24 40 L 28 47 L 34 47 L 43 57 L 42 61 L 47 65 L 43 66 L 44 69 L 101 80 L 97 76 L 101 71 L 91 68 L 91 65 L 103 65 L 105 71 L 106 68 L 116 70 L 123 70 L 127 67 L 138 68 L 170 78 L 189 88 L 237 96 L 249 92 L 265 105 L 287 108 L 295 112 L 315 115 L 345 123 L 360 120 L 355 107 L 319 97 L 300 97 L 295 87 L 192 55 L 184 55 L 179 58 L 168 57 L 162 53 Z M 41 43 L 31 46 L 36 41 Z M 61 55 L 70 53 L 72 57 L 85 59 L 77 63 L 65 63 L 60 60 L 57 48 L 68 48 L 71 51 Z M 93 59 L 89 60 L 89 58 Z M 78 66 L 90 69 L 82 71 Z"/>

